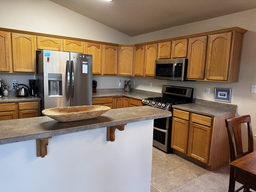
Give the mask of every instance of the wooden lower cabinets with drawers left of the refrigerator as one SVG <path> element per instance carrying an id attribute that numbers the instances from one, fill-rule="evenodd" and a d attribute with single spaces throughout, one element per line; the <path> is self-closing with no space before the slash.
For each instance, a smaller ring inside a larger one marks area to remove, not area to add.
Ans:
<path id="1" fill-rule="evenodd" d="M 40 102 L 14 102 L 0 104 L 0 120 L 38 117 Z"/>

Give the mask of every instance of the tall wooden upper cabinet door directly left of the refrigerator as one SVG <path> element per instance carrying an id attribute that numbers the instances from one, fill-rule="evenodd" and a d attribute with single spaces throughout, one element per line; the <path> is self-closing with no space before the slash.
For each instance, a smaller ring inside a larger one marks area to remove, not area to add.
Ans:
<path id="1" fill-rule="evenodd" d="M 35 72 L 36 36 L 12 33 L 13 72 Z"/>

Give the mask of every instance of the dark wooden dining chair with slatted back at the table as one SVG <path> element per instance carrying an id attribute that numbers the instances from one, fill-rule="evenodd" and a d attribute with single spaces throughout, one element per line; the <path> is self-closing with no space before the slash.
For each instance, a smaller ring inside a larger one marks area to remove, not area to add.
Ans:
<path id="1" fill-rule="evenodd" d="M 250 115 L 237 116 L 233 118 L 228 118 L 225 120 L 226 128 L 228 131 L 228 140 L 230 146 L 230 162 L 245 156 L 253 152 L 253 138 L 252 138 L 252 125 L 251 125 L 251 117 Z M 246 128 L 241 126 L 241 124 L 247 124 L 248 130 L 248 151 L 244 152 L 242 148 L 242 129 Z M 234 192 L 235 182 L 239 182 L 243 185 L 244 178 L 241 178 L 240 174 L 234 170 L 234 168 L 230 167 L 230 179 L 229 179 L 229 188 L 228 192 Z M 242 186 L 236 190 L 240 191 L 244 188 L 244 192 L 250 191 L 248 187 Z"/>

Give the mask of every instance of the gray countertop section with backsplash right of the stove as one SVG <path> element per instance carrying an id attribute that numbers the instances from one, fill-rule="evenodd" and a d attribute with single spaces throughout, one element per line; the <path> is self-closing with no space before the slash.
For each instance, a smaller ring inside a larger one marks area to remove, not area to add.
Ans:
<path id="1" fill-rule="evenodd" d="M 200 99 L 194 99 L 193 103 L 173 105 L 172 107 L 175 109 L 186 110 L 211 117 L 236 112 L 236 105 Z"/>

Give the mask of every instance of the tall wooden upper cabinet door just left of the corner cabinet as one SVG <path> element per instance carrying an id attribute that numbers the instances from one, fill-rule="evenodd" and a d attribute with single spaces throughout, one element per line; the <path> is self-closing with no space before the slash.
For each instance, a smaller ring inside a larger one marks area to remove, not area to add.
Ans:
<path id="1" fill-rule="evenodd" d="M 103 46 L 103 74 L 117 75 L 118 46 Z"/>

